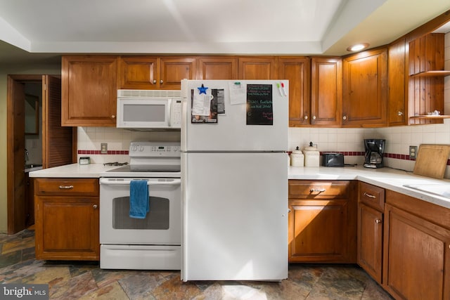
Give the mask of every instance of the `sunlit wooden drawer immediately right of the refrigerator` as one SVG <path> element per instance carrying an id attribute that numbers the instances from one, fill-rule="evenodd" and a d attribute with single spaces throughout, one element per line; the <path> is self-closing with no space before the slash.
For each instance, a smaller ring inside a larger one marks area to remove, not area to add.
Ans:
<path id="1" fill-rule="evenodd" d="M 301 199 L 348 198 L 351 181 L 289 181 L 289 197 Z"/>

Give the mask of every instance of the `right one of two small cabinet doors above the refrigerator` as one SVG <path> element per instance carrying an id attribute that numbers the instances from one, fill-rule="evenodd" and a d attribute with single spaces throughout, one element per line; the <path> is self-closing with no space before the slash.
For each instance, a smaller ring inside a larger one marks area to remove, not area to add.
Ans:
<path id="1" fill-rule="evenodd" d="M 276 70 L 276 57 L 274 56 L 252 56 L 239 58 L 239 79 L 276 79 Z"/>

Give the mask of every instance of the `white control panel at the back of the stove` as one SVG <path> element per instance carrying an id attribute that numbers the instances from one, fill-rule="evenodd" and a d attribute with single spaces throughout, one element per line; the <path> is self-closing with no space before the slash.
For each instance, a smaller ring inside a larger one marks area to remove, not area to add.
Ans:
<path id="1" fill-rule="evenodd" d="M 129 157 L 181 157 L 180 143 L 133 141 L 129 145 Z"/>

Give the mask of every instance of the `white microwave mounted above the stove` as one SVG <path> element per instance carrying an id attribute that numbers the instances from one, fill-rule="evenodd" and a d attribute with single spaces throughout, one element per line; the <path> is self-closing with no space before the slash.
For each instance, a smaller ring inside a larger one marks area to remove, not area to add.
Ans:
<path id="1" fill-rule="evenodd" d="M 117 128 L 181 128 L 181 91 L 117 90 Z"/>

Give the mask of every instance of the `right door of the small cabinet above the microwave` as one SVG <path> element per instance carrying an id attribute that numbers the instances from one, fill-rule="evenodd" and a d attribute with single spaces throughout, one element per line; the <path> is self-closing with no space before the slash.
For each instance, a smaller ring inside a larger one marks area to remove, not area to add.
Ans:
<path id="1" fill-rule="evenodd" d="M 195 58 L 160 58 L 159 89 L 179 90 L 182 79 L 195 79 Z"/>

